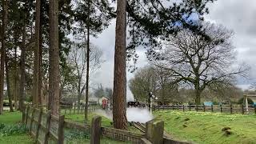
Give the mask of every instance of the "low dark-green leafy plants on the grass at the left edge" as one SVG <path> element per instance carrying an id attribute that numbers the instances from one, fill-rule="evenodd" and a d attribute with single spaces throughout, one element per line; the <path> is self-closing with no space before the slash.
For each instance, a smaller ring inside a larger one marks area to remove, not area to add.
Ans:
<path id="1" fill-rule="evenodd" d="M 4 124 L 0 124 L 0 134 L 2 136 L 10 136 L 12 134 L 22 134 L 26 133 L 27 128 L 23 124 L 6 126 Z"/>

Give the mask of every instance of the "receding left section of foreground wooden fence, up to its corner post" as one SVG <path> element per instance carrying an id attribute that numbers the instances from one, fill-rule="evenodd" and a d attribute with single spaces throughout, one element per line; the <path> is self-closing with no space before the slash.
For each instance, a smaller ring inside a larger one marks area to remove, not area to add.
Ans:
<path id="1" fill-rule="evenodd" d="M 25 124 L 36 143 L 63 143 L 64 116 L 56 117 L 50 111 L 26 106 L 23 110 Z"/>

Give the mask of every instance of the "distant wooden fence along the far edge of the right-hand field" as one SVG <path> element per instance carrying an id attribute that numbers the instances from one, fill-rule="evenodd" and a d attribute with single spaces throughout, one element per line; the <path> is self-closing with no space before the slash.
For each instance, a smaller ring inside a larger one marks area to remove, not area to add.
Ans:
<path id="1" fill-rule="evenodd" d="M 166 105 L 154 106 L 154 110 L 182 110 L 182 111 L 201 111 L 201 112 L 220 112 L 230 114 L 256 114 L 256 106 L 250 105 L 246 111 L 245 105 Z"/>

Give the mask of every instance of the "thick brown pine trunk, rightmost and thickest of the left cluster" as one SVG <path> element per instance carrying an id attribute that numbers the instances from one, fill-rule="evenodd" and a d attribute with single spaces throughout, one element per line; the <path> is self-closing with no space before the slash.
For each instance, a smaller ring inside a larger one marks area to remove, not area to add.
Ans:
<path id="1" fill-rule="evenodd" d="M 50 0 L 49 101 L 51 114 L 59 114 L 58 0 Z"/>

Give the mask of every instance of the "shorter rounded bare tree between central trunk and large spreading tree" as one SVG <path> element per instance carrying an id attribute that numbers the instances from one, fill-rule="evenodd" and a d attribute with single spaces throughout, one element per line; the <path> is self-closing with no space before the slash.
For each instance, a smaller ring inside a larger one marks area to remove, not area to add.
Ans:
<path id="1" fill-rule="evenodd" d="M 173 101 L 178 94 L 178 86 L 173 83 L 173 79 L 162 73 L 162 70 L 154 70 L 152 66 L 138 69 L 134 78 L 130 79 L 129 87 L 138 101 L 144 101 L 150 92 L 162 102 Z"/>

